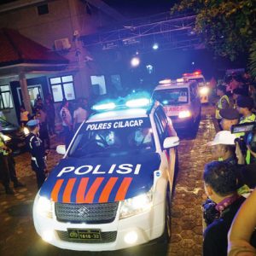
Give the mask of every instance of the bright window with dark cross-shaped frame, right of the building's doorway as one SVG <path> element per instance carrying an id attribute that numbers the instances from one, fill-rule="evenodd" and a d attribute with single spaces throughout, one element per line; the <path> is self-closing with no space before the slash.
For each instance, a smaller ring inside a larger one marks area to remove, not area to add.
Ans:
<path id="1" fill-rule="evenodd" d="M 62 102 L 63 98 L 66 98 L 67 101 L 76 98 L 72 75 L 49 79 L 49 84 L 55 102 Z"/>

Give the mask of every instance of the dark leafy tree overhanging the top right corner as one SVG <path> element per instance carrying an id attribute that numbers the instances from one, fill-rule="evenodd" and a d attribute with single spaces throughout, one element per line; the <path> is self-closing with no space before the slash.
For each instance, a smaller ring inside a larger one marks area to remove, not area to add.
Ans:
<path id="1" fill-rule="evenodd" d="M 215 55 L 234 61 L 241 54 L 248 55 L 256 43 L 255 0 L 182 0 L 171 11 L 194 13 L 195 32 Z"/>

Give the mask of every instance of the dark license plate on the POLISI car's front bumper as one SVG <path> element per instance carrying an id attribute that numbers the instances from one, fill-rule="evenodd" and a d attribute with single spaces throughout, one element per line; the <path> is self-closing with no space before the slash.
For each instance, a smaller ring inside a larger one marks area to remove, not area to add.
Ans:
<path id="1" fill-rule="evenodd" d="M 101 230 L 67 230 L 69 239 L 102 240 Z"/>

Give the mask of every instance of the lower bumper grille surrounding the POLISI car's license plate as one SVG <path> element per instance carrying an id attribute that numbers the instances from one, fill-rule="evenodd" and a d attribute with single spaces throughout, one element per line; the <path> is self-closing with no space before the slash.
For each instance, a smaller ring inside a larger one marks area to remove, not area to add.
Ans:
<path id="1" fill-rule="evenodd" d="M 79 240 L 79 239 L 70 239 L 68 237 L 67 231 L 56 230 L 61 241 L 70 241 L 70 242 L 79 242 L 79 243 L 108 243 L 116 240 L 117 231 L 102 232 L 101 240 Z"/>

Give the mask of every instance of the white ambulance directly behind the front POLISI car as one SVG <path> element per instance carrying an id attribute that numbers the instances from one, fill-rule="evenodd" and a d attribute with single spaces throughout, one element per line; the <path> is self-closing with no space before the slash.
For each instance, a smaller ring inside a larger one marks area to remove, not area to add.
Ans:
<path id="1" fill-rule="evenodd" d="M 154 89 L 153 98 L 163 104 L 176 129 L 196 131 L 201 119 L 201 102 L 194 80 L 161 80 Z"/>

